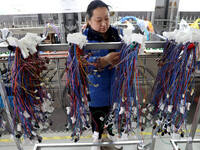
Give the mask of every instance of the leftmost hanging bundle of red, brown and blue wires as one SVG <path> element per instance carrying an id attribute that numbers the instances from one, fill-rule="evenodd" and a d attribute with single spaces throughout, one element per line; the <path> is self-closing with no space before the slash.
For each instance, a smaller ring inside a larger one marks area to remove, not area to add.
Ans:
<path id="1" fill-rule="evenodd" d="M 41 77 L 47 63 L 49 59 L 40 58 L 38 53 L 24 59 L 21 50 L 18 47 L 15 50 L 11 80 L 17 138 L 24 135 L 24 138 L 41 142 L 39 132 L 51 125 L 52 98 L 47 92 L 48 83 Z"/>

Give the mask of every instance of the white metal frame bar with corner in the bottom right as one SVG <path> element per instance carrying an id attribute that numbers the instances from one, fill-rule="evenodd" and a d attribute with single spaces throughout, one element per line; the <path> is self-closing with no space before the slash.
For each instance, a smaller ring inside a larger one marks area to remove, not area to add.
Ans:
<path id="1" fill-rule="evenodd" d="M 170 143 L 172 144 L 172 147 L 174 148 L 174 150 L 179 150 L 178 145 L 177 145 L 178 143 L 200 143 L 200 139 L 181 139 L 181 140 L 171 139 Z"/>

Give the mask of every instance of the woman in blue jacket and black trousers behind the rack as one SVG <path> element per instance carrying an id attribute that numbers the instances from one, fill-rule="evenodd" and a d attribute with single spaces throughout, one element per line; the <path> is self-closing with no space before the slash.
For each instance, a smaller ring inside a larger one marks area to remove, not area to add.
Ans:
<path id="1" fill-rule="evenodd" d="M 118 32 L 110 26 L 109 7 L 100 0 L 92 1 L 87 8 L 87 27 L 83 34 L 87 36 L 88 42 L 119 42 Z M 93 140 L 101 139 L 107 115 L 111 105 L 111 85 L 114 74 L 113 66 L 119 62 L 119 52 L 110 50 L 92 50 L 89 62 L 97 63 L 94 73 L 89 78 L 89 108 L 92 119 Z M 97 71 L 96 71 L 97 70 Z M 92 83 L 92 84 L 90 84 Z M 108 132 L 112 134 L 112 132 Z M 94 147 L 93 147 L 94 148 Z M 95 149 L 95 148 L 94 148 Z M 97 147 L 96 147 L 97 149 Z"/>

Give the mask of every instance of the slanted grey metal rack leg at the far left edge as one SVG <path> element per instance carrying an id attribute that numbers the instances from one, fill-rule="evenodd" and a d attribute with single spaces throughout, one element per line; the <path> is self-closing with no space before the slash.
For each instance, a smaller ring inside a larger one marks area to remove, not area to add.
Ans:
<path id="1" fill-rule="evenodd" d="M 10 125 L 12 132 L 14 133 L 14 141 L 16 143 L 17 149 L 23 150 L 20 140 L 15 137 L 14 124 L 12 122 L 12 117 L 11 117 L 11 114 L 10 114 L 10 111 L 9 111 L 10 110 L 9 109 L 9 100 L 8 100 L 8 96 L 7 96 L 6 89 L 5 89 L 5 86 L 4 86 L 2 79 L 0 79 L 0 93 L 1 93 L 1 98 L 2 98 L 4 107 L 5 107 L 5 110 L 6 110 L 6 115 L 8 117 L 8 123 Z"/>

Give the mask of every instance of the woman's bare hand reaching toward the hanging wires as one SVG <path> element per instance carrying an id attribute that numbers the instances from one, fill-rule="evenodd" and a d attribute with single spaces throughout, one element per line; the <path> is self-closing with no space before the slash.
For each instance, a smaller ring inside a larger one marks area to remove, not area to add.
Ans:
<path id="1" fill-rule="evenodd" d="M 111 52 L 104 57 L 101 57 L 101 66 L 106 67 L 107 65 L 111 65 L 110 68 L 113 68 L 120 59 L 119 52 Z"/>

